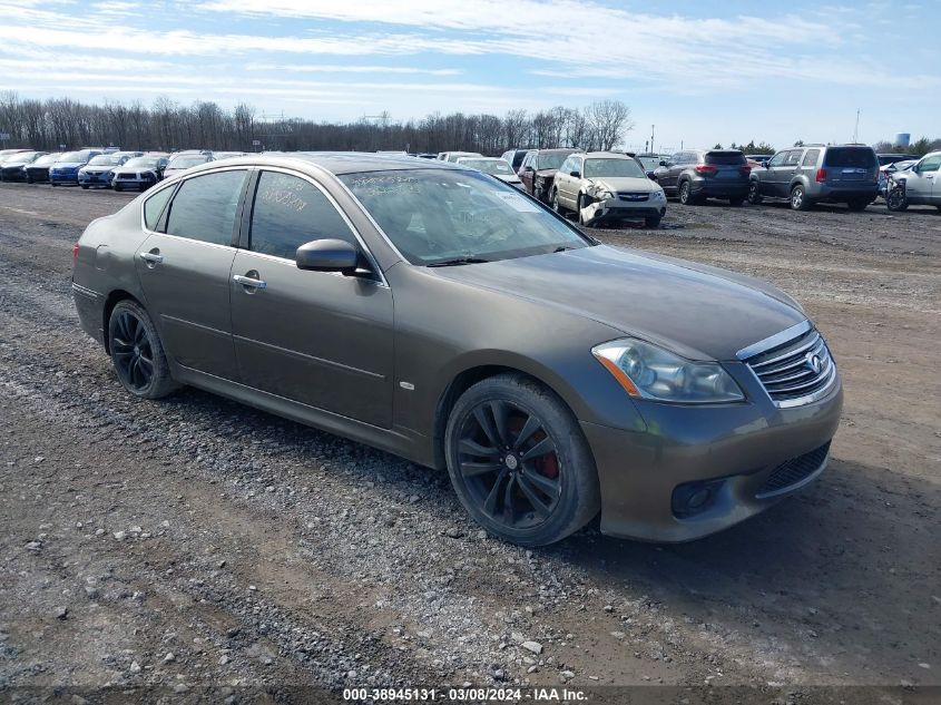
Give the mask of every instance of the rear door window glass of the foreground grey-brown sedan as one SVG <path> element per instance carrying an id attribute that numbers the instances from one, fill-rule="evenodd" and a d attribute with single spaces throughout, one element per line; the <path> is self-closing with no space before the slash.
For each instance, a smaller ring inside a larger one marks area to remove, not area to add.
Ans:
<path id="1" fill-rule="evenodd" d="M 167 235 L 231 245 L 246 174 L 216 172 L 183 182 L 169 205 Z"/>

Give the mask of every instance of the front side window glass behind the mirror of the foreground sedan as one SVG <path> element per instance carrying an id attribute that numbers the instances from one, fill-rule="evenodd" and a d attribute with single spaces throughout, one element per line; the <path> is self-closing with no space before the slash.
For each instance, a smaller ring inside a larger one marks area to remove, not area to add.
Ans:
<path id="1" fill-rule="evenodd" d="M 350 226 L 320 188 L 297 176 L 262 172 L 252 207 L 249 249 L 294 260 L 301 245 L 325 238 L 360 246 Z"/>

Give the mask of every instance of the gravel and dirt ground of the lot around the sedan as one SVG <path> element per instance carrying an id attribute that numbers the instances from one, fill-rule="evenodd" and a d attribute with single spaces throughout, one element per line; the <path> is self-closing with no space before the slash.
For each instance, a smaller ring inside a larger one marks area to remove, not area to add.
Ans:
<path id="1" fill-rule="evenodd" d="M 0 185 L 0 688 L 941 685 L 934 208 L 672 202 L 663 229 L 594 231 L 798 298 L 843 422 L 819 482 L 724 533 L 527 551 L 443 473 L 207 393 L 125 393 L 70 267 L 131 197 Z"/>

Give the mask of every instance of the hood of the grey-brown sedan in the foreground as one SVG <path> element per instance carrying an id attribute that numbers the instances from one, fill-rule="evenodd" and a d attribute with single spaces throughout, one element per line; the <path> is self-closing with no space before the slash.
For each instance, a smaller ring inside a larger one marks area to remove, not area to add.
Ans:
<path id="1" fill-rule="evenodd" d="M 434 272 L 584 315 L 690 360 L 735 360 L 737 351 L 806 319 L 785 293 L 758 280 L 607 245 Z"/>

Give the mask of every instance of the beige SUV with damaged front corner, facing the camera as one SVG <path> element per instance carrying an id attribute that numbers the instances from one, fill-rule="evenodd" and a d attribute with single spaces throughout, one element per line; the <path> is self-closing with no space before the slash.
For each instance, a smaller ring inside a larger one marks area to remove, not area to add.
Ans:
<path id="1" fill-rule="evenodd" d="M 611 151 L 569 155 L 551 193 L 556 212 L 574 210 L 582 225 L 641 218 L 647 227 L 657 227 L 667 212 L 664 189 L 640 163 Z"/>

